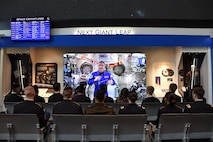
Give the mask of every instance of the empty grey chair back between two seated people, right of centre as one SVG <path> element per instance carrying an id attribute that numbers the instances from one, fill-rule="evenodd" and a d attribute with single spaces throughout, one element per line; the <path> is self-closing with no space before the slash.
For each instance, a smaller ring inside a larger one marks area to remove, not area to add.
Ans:
<path id="1" fill-rule="evenodd" d="M 146 109 L 146 113 L 148 115 L 147 121 L 155 122 L 158 117 L 158 110 L 161 107 L 161 103 L 159 102 L 144 102 L 143 106 Z"/>

